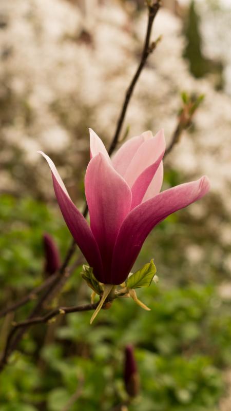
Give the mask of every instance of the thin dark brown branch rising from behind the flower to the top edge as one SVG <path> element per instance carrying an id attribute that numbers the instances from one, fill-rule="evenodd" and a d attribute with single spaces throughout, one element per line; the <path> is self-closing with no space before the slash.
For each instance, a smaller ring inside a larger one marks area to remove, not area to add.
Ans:
<path id="1" fill-rule="evenodd" d="M 150 3 L 150 2 L 149 2 Z M 139 66 L 137 68 L 136 73 L 134 74 L 131 83 L 126 91 L 125 94 L 125 99 L 124 99 L 124 103 L 120 112 L 120 116 L 119 116 L 119 120 L 117 123 L 117 128 L 115 130 L 115 134 L 113 137 L 113 140 L 111 142 L 111 145 L 109 147 L 108 153 L 109 155 L 111 155 L 111 153 L 114 151 L 115 147 L 117 146 L 118 140 L 119 140 L 119 136 L 121 133 L 121 129 L 124 123 L 124 119 L 125 119 L 125 115 L 127 112 L 127 107 L 128 104 L 130 102 L 134 87 L 137 84 L 137 81 L 140 77 L 140 74 L 143 70 L 143 67 L 147 61 L 147 58 L 149 56 L 150 53 L 152 53 L 153 50 L 155 50 L 156 46 L 157 46 L 157 42 L 153 42 L 150 44 L 150 36 L 151 36 L 151 29 L 152 29 L 152 25 L 153 25 L 153 21 L 157 15 L 158 10 L 160 9 L 160 0 L 155 0 L 154 2 L 152 2 L 152 4 L 148 4 L 148 24 L 147 24 L 147 31 L 146 31 L 146 36 L 145 36 L 145 42 L 144 42 L 144 47 L 143 47 L 143 51 L 142 51 L 142 55 L 141 55 L 141 61 L 139 63 Z"/>

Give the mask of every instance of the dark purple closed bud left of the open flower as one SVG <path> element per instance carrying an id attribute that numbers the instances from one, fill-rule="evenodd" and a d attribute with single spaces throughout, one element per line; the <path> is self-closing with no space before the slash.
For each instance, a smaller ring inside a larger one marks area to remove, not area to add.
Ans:
<path id="1" fill-rule="evenodd" d="M 54 240 L 49 234 L 43 234 L 43 243 L 45 253 L 44 272 L 49 276 L 60 268 L 60 253 Z"/>

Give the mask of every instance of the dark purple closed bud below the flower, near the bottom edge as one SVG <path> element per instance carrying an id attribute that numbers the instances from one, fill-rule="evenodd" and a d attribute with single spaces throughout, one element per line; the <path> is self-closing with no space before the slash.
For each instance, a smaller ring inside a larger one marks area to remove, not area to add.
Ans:
<path id="1" fill-rule="evenodd" d="M 128 395 L 136 397 L 140 390 L 140 377 L 132 345 L 125 347 L 124 382 Z"/>

